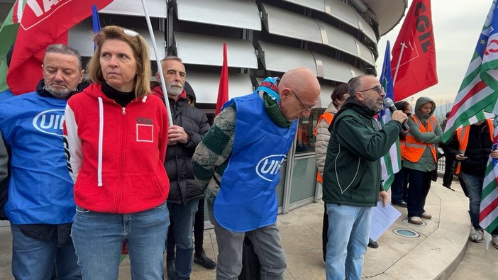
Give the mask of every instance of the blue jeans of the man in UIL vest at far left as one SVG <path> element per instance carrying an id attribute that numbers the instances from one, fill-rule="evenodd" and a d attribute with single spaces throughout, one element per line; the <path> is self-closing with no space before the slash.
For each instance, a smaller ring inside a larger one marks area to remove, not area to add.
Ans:
<path id="1" fill-rule="evenodd" d="M 72 243 L 59 246 L 56 233 L 48 241 L 36 240 L 13 223 L 11 232 L 12 274 L 16 279 L 50 279 L 54 263 L 57 279 L 82 279 Z"/>

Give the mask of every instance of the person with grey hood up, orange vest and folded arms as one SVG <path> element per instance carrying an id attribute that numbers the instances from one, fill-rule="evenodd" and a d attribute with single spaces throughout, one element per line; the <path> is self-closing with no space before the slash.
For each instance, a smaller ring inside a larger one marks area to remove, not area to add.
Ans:
<path id="1" fill-rule="evenodd" d="M 436 145 L 441 142 L 443 131 L 433 116 L 436 103 L 428 97 L 416 100 L 415 113 L 408 118 L 410 130 L 406 133 L 403 167 L 409 172 L 408 222 L 421 225 L 432 218 L 424 209 L 431 177 L 437 167 Z"/>

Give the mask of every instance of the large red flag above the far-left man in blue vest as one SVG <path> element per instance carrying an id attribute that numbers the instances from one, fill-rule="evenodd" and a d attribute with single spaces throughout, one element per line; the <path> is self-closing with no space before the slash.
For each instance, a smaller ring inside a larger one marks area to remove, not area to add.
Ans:
<path id="1" fill-rule="evenodd" d="M 26 1 L 7 72 L 14 94 L 36 89 L 42 78 L 43 56 L 48 45 L 67 44 L 67 30 L 92 15 L 92 5 L 104 9 L 112 0 Z"/>

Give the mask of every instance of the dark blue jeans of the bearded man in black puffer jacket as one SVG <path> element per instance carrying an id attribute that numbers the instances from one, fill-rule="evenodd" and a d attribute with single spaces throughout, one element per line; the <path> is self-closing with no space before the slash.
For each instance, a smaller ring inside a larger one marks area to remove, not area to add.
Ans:
<path id="1" fill-rule="evenodd" d="M 175 243 L 177 245 L 175 280 L 190 279 L 192 253 L 194 252 L 192 227 L 194 226 L 197 206 L 199 206 L 199 198 L 189 200 L 186 205 L 167 203 L 167 208 L 170 211 L 173 235 L 175 236 Z"/>

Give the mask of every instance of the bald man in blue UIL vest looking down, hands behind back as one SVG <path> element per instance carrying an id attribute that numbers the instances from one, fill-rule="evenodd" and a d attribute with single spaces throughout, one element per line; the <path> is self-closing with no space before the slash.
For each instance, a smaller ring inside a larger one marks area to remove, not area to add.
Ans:
<path id="1" fill-rule="evenodd" d="M 311 70 L 292 69 L 280 83 L 268 77 L 258 89 L 228 101 L 192 157 L 199 188 L 206 188 L 218 242 L 216 279 L 237 279 L 243 240 L 254 245 L 262 279 L 284 279 L 275 186 L 294 140 L 297 119 L 319 101 Z"/>

